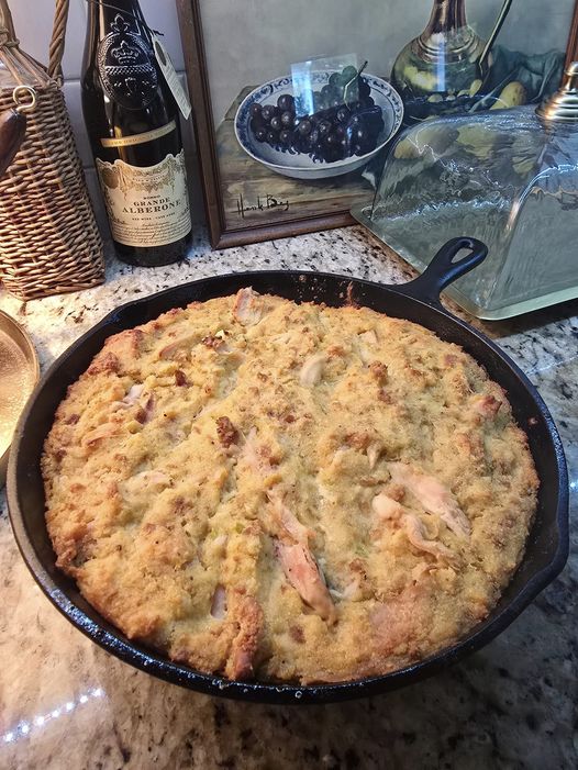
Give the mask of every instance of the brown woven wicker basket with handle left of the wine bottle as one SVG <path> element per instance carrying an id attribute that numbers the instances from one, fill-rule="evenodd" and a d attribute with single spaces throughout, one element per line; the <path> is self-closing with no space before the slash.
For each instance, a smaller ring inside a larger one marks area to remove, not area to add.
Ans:
<path id="1" fill-rule="evenodd" d="M 30 86 L 24 142 L 0 179 L 0 281 L 30 300 L 102 283 L 102 241 L 62 91 L 68 0 L 57 0 L 47 69 L 19 48 L 0 0 L 0 111 L 13 88 Z M 4 68 L 5 67 L 5 68 Z"/>

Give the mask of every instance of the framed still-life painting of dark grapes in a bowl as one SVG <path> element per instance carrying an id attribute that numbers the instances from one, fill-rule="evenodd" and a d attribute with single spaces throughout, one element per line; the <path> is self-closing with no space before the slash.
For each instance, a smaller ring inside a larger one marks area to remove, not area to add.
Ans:
<path id="1" fill-rule="evenodd" d="M 215 248 L 353 224 L 349 210 L 371 200 L 403 112 L 412 118 L 403 77 L 421 78 L 420 109 L 433 114 L 446 98 L 456 100 L 453 109 L 469 109 L 478 79 L 492 78 L 481 107 L 507 108 L 551 93 L 564 62 L 578 57 L 575 0 L 177 5 Z M 440 94 L 404 52 L 427 30 L 438 35 L 443 25 L 452 34 L 466 23 L 477 55 L 491 44 L 483 59 L 491 78 L 474 74 L 466 87 L 445 83 Z"/>

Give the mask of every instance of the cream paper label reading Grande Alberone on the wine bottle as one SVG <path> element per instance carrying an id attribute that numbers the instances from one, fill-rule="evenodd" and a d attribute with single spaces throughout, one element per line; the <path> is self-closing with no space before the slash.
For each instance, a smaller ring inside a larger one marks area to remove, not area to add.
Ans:
<path id="1" fill-rule="evenodd" d="M 191 228 L 185 152 L 156 166 L 96 159 L 112 237 L 126 246 L 165 246 Z"/>

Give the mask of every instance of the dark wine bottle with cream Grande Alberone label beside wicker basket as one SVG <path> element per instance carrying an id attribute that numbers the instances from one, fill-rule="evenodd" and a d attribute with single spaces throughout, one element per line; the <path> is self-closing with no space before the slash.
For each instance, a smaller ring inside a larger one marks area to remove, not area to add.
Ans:
<path id="1" fill-rule="evenodd" d="M 118 256 L 153 267 L 191 237 L 178 107 L 137 0 L 91 0 L 82 112 Z"/>

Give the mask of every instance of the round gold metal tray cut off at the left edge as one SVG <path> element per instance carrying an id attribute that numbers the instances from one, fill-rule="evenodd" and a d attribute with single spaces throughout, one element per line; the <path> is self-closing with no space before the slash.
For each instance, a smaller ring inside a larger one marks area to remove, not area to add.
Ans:
<path id="1" fill-rule="evenodd" d="M 0 489 L 5 481 L 14 427 L 38 377 L 38 358 L 31 338 L 0 310 Z"/>

